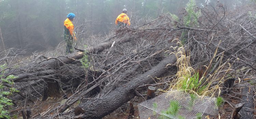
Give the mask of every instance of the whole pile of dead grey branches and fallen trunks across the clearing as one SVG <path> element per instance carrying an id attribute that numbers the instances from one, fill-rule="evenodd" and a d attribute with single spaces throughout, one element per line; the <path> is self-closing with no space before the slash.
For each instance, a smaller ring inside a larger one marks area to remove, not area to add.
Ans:
<path id="1" fill-rule="evenodd" d="M 219 109 L 221 119 L 231 118 L 235 105 L 242 102 L 240 118 L 253 118 L 255 8 L 226 11 L 223 4 L 197 8 L 201 15 L 191 17 L 195 23 L 189 25 L 183 19 L 186 11 L 179 20 L 170 14 L 142 19 L 135 27 L 81 41 L 69 55 L 57 49 L 24 58 L 23 51 L 3 51 L 0 63 L 6 67 L 1 72 L 5 77 L 17 76 L 13 86 L 20 90 L 10 97 L 15 104 L 12 113 L 21 114 L 21 109 L 29 107 L 30 118 L 102 118 L 136 96 L 145 97 L 147 86 L 169 88 L 177 73 L 176 49 L 183 47 L 204 84 L 211 82 L 210 87 L 217 85 L 221 90 L 210 95 L 225 100 Z M 40 105 L 49 100 L 54 103 L 42 109 Z"/>

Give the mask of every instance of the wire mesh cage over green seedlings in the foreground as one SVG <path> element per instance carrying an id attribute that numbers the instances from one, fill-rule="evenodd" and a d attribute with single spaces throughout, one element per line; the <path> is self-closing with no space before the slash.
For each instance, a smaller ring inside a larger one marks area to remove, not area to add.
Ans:
<path id="1" fill-rule="evenodd" d="M 218 114 L 216 98 L 172 90 L 138 105 L 140 119 L 209 119 Z"/>

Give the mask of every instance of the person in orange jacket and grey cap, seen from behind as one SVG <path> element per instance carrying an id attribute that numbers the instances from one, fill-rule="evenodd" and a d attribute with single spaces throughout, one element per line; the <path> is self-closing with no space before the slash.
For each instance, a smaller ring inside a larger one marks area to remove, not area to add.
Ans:
<path id="1" fill-rule="evenodd" d="M 120 14 L 117 18 L 116 18 L 116 27 L 119 28 L 120 26 L 127 26 L 127 25 L 131 25 L 130 23 L 130 19 L 129 17 L 126 15 L 127 10 L 126 8 L 123 9 L 123 13 Z"/>

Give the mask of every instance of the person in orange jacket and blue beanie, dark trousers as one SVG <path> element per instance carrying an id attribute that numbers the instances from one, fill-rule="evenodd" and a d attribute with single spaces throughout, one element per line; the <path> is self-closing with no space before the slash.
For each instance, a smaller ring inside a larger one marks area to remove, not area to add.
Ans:
<path id="1" fill-rule="evenodd" d="M 67 19 L 64 21 L 64 40 L 67 43 L 66 54 L 73 53 L 73 40 L 76 41 L 74 33 L 74 25 L 71 21 L 74 21 L 75 14 L 69 13 Z"/>

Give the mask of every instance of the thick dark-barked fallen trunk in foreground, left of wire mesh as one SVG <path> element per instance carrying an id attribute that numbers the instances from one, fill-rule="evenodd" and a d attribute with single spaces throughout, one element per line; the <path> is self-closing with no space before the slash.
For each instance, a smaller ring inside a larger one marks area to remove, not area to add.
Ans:
<path id="1" fill-rule="evenodd" d="M 166 68 L 166 65 L 174 64 L 175 62 L 176 56 L 172 54 L 162 60 L 157 66 L 153 67 L 151 70 L 139 75 L 136 79 L 128 82 L 124 86 L 116 88 L 108 95 L 105 95 L 104 97 L 96 100 L 80 104 L 75 108 L 76 114 L 81 114 L 83 113 L 83 111 L 85 113 L 75 118 L 99 119 L 104 117 L 105 115 L 110 114 L 122 104 L 128 102 L 130 99 L 136 96 L 136 87 L 143 84 L 153 83 L 156 77 L 161 77 L 162 75 L 167 73 L 168 68 Z M 81 113 L 77 113 L 77 111 L 81 111 Z"/>

